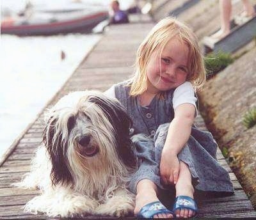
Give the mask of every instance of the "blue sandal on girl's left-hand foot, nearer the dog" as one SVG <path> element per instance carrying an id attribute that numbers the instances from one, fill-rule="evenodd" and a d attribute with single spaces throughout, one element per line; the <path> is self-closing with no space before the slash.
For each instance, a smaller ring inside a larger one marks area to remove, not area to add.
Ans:
<path id="1" fill-rule="evenodd" d="M 144 207 L 141 208 L 140 212 L 136 215 L 136 217 L 143 218 L 152 218 L 156 214 L 172 214 L 175 217 L 175 214 L 168 210 L 160 201 L 153 201 L 152 203 L 148 203 Z"/>

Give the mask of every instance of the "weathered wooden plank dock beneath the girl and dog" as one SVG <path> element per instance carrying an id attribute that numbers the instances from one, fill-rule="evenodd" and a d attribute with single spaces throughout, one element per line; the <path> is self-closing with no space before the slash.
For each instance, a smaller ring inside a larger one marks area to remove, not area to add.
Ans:
<path id="1" fill-rule="evenodd" d="M 136 49 L 153 25 L 152 22 L 134 22 L 111 26 L 60 91 L 45 106 L 45 109 L 51 107 L 60 97 L 70 91 L 86 89 L 104 91 L 113 83 L 127 79 L 134 70 L 132 65 Z M 38 191 L 10 186 L 13 182 L 18 182 L 22 175 L 29 171 L 31 158 L 35 155 L 35 149 L 42 140 L 45 109 L 15 141 L 9 154 L 6 154 L 2 161 L 0 167 L 0 218 L 47 218 L 44 214 L 35 216 L 23 211 L 24 204 L 38 194 Z M 205 129 L 201 117 L 196 119 L 196 123 Z M 201 198 L 198 201 L 200 210 L 198 217 L 256 217 L 250 200 L 220 151 L 218 151 L 218 161 L 227 169 L 234 185 L 235 194 L 221 198 Z M 88 217 L 95 218 L 95 216 Z M 99 216 L 97 217 L 99 218 Z"/>

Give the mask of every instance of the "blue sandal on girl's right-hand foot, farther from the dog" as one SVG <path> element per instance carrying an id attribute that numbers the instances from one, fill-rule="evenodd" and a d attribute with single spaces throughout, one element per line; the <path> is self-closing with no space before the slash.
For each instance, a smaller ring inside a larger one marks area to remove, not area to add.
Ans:
<path id="1" fill-rule="evenodd" d="M 195 200 L 189 196 L 177 196 L 175 199 L 174 205 L 173 205 L 173 212 L 175 213 L 175 210 L 178 208 L 186 208 L 193 210 L 195 212 L 195 215 L 192 217 L 195 217 L 198 213 L 198 207 L 196 205 Z"/>

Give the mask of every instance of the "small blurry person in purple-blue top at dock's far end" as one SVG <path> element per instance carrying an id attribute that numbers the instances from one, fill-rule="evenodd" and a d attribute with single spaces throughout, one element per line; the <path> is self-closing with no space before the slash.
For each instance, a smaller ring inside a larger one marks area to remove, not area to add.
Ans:
<path id="1" fill-rule="evenodd" d="M 127 13 L 120 10 L 118 1 L 111 2 L 111 9 L 112 9 L 112 12 L 109 13 L 110 14 L 110 20 L 109 20 L 110 24 L 122 24 L 122 23 L 129 22 Z"/>

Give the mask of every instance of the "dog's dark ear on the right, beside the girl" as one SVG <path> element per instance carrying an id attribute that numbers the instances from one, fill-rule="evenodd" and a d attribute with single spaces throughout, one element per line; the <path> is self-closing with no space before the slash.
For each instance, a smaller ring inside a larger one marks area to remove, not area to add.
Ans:
<path id="1" fill-rule="evenodd" d="M 94 102 L 102 109 L 105 116 L 115 130 L 116 151 L 118 157 L 126 166 L 134 167 L 136 164 L 134 151 L 132 150 L 131 139 L 129 136 L 132 120 L 125 113 L 125 109 L 120 102 L 108 100 L 102 97 L 90 97 L 90 102 Z"/>

